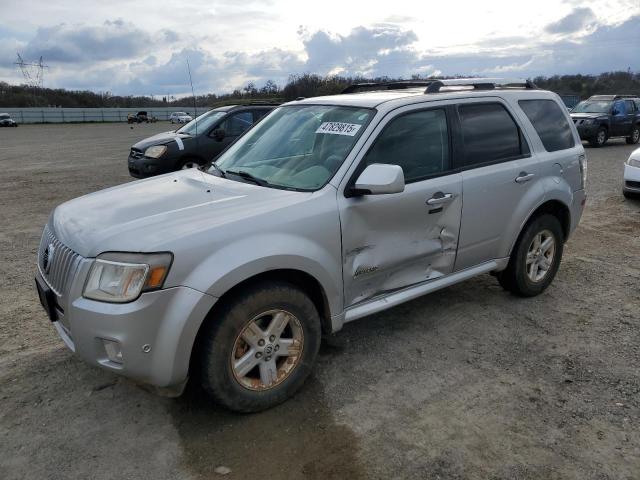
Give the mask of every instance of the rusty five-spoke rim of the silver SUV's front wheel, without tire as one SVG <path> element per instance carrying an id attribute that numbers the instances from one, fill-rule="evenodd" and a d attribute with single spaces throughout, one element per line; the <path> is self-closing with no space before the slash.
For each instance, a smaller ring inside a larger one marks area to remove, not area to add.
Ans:
<path id="1" fill-rule="evenodd" d="M 284 382 L 300 363 L 304 333 L 298 318 L 275 309 L 251 319 L 231 351 L 231 371 L 249 390 L 269 390 Z"/>

